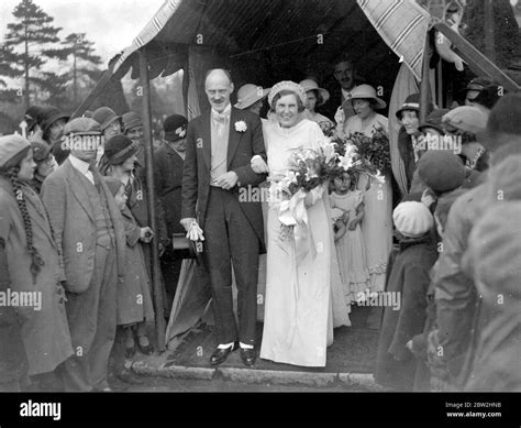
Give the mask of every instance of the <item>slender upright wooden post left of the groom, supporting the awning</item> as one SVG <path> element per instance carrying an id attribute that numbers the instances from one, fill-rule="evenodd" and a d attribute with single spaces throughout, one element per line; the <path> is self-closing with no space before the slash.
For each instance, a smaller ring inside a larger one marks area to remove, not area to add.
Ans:
<path id="1" fill-rule="evenodd" d="M 151 81 L 148 78 L 148 61 L 146 47 L 140 50 L 140 83 L 143 88 L 143 133 L 145 140 L 145 168 L 146 168 L 146 191 L 148 196 L 148 218 L 151 228 L 157 232 L 153 169 L 153 136 L 152 136 L 152 109 L 151 109 Z M 156 317 L 157 348 L 164 351 L 165 347 L 165 317 L 163 307 L 163 286 L 160 282 L 159 248 L 158 237 L 152 241 L 152 284 L 154 294 L 154 309 Z"/>

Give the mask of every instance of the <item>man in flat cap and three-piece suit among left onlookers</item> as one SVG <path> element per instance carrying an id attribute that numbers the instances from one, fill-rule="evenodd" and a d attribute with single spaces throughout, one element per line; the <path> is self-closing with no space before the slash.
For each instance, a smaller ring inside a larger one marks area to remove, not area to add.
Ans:
<path id="1" fill-rule="evenodd" d="M 98 122 L 78 118 L 64 133 L 69 157 L 42 186 L 65 271 L 67 318 L 75 354 L 64 363 L 66 391 L 110 391 L 109 355 L 117 325 L 117 287 L 125 267 L 120 211 L 93 166 Z"/>

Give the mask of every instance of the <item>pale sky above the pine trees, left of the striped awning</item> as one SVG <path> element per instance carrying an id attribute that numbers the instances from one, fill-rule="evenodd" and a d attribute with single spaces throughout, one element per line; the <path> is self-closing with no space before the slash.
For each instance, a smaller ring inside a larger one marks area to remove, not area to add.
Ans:
<path id="1" fill-rule="evenodd" d="M 132 43 L 165 0 L 33 0 L 63 28 L 58 36 L 86 33 L 96 43 L 96 53 L 104 64 Z M 14 21 L 12 11 L 21 0 L 0 1 L 0 40 Z"/>

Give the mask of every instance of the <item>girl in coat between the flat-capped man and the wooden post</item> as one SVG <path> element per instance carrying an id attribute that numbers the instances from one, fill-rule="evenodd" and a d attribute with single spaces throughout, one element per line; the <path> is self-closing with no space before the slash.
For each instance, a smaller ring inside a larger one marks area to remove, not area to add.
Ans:
<path id="1" fill-rule="evenodd" d="M 123 217 L 126 235 L 126 270 L 124 285 L 118 288 L 118 326 L 125 330 L 125 356 L 134 355 L 137 336 L 138 348 L 145 354 L 152 354 L 153 347 L 146 334 L 146 321 L 154 319 L 154 309 L 141 242 L 151 242 L 151 228 L 140 228 L 126 206 L 125 186 L 113 177 L 104 177 L 107 186 L 114 196 Z"/>

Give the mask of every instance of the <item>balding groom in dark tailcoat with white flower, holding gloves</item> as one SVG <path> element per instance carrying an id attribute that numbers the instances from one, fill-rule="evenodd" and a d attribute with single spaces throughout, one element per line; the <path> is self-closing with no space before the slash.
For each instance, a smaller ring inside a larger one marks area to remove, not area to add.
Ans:
<path id="1" fill-rule="evenodd" d="M 233 88 L 226 70 L 217 68 L 207 74 L 204 90 L 211 110 L 188 124 L 180 222 L 187 237 L 204 240 L 219 343 L 210 363 L 222 363 L 240 345 L 242 361 L 253 365 L 264 223 L 260 202 L 240 201 L 239 196 L 241 188 L 247 190 L 265 180 L 265 174 L 252 169 L 251 160 L 255 155 L 266 160 L 266 152 L 260 119 L 232 108 Z M 239 332 L 233 314 L 232 263 L 239 292 Z"/>

